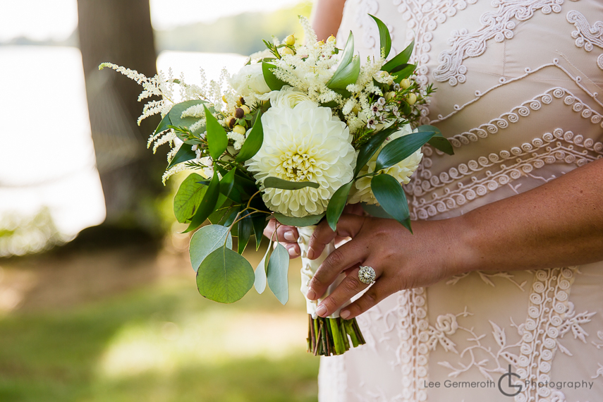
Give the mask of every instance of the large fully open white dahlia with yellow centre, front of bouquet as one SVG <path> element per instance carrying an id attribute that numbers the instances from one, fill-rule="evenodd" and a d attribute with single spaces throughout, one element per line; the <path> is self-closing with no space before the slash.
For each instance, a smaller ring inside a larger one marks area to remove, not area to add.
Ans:
<path id="1" fill-rule="evenodd" d="M 333 193 L 353 177 L 355 151 L 346 123 L 328 107 L 303 101 L 293 108 L 271 107 L 262 126 L 264 143 L 248 164 L 257 183 L 272 176 L 319 184 L 300 190 L 262 186 L 267 207 L 289 217 L 322 214 Z"/>

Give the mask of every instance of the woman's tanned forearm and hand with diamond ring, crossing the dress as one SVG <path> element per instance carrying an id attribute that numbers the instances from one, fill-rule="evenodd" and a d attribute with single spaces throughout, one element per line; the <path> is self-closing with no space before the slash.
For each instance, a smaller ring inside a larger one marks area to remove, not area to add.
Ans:
<path id="1" fill-rule="evenodd" d="M 414 235 L 391 219 L 344 215 L 338 236 L 353 240 L 324 260 L 308 298 L 324 293 L 336 276 L 348 276 L 321 305 L 325 317 L 367 285 L 358 267 L 369 265 L 377 281 L 342 310 L 351 318 L 406 288 L 427 286 L 475 270 L 545 269 L 603 260 L 603 160 L 549 183 L 474 209 L 461 217 L 413 222 Z M 322 222 L 310 240 L 317 257 L 335 233 Z"/>

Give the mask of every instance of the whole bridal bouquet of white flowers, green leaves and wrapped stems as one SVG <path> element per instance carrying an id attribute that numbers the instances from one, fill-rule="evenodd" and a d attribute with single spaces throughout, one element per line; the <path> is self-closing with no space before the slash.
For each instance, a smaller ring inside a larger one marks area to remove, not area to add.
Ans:
<path id="1" fill-rule="evenodd" d="M 241 255 L 252 237 L 260 248 L 269 218 L 300 228 L 304 294 L 320 262 L 334 250 L 330 245 L 317 260 L 307 259 L 314 225 L 326 219 L 335 229 L 346 204 L 362 202 L 368 213 L 391 217 L 411 230 L 401 184 L 410 181 L 426 142 L 449 154 L 452 148 L 437 128 L 411 128 L 432 87 L 412 80 L 413 44 L 386 61 L 389 31 L 372 18 L 381 54 L 363 64 L 354 55 L 352 33 L 338 49 L 332 36 L 318 41 L 300 17 L 305 44 L 293 35 L 282 43 L 264 41 L 267 49 L 250 56 L 238 73 L 223 71 L 209 85 L 205 77 L 202 85 L 192 85 L 171 74 L 147 78 L 111 63 L 99 66 L 140 83 L 139 100 L 160 97 L 145 105 L 140 119 L 163 116 L 149 146 L 173 148 L 164 181 L 178 171 L 195 171 L 178 188 L 173 210 L 188 224 L 185 232 L 207 219 L 211 223 L 190 238 L 190 261 L 205 298 L 233 303 L 255 285 L 259 293 L 269 286 L 281 303 L 287 302 L 289 256 L 283 245 L 272 247 L 276 236 L 255 272 Z M 174 85 L 182 102 L 172 100 Z M 339 355 L 350 342 L 364 343 L 355 319 L 341 319 L 339 312 L 317 317 L 319 302 L 307 300 L 309 351 Z"/>

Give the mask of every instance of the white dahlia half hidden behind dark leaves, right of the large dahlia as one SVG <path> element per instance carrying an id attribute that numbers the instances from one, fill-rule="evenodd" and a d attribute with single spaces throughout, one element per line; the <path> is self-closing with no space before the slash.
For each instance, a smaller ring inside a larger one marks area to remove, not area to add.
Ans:
<path id="1" fill-rule="evenodd" d="M 410 125 L 406 125 L 401 130 L 396 131 L 396 133 L 392 134 L 388 140 L 384 141 L 384 144 L 379 149 L 379 152 L 383 149 L 383 147 L 390 142 L 391 140 L 395 140 L 396 138 L 400 138 L 403 135 L 408 135 L 413 131 L 410 129 Z M 359 176 L 363 176 L 366 173 L 372 173 L 374 171 L 374 166 L 377 161 L 377 157 L 379 156 L 379 152 L 375 152 L 370 161 L 363 166 L 363 169 L 360 170 Z M 421 158 L 423 154 L 421 150 L 417 150 L 414 154 L 410 155 L 410 157 L 404 159 L 402 162 L 391 166 L 387 169 L 383 169 L 383 173 L 389 174 L 389 176 L 394 177 L 401 184 L 408 184 L 410 181 L 410 176 L 417 170 Z M 355 204 L 357 202 L 366 202 L 367 204 L 377 204 L 377 199 L 375 199 L 372 190 L 370 189 L 370 177 L 363 177 L 358 179 L 354 183 L 354 187 L 350 192 L 350 197 L 348 198 L 348 202 L 351 204 Z"/>

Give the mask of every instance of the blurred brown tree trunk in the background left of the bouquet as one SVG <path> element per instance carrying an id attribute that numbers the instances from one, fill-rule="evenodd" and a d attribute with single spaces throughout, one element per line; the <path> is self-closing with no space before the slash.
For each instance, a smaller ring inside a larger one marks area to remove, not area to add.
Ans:
<path id="1" fill-rule="evenodd" d="M 104 225 L 159 229 L 154 200 L 166 160 L 146 149 L 159 118 L 136 125 L 142 87 L 114 71 L 110 61 L 147 76 L 157 72 L 149 0 L 78 0 L 80 49 L 97 169 L 106 204 Z"/>

